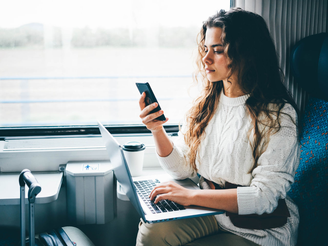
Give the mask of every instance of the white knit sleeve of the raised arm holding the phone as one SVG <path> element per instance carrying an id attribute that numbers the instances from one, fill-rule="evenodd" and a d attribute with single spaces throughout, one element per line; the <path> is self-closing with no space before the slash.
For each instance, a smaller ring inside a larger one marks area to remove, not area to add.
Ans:
<path id="1" fill-rule="evenodd" d="M 182 128 L 183 131 L 183 128 Z M 184 141 L 184 135 L 178 132 L 178 137 L 173 141 L 173 150 L 166 157 L 161 157 L 156 152 L 162 168 L 175 179 L 195 177 L 196 171 L 192 168 L 187 156 L 188 147 Z"/>

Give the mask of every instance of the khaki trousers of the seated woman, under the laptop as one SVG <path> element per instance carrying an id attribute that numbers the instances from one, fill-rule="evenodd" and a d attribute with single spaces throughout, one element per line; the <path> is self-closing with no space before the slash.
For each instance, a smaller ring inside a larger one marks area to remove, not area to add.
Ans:
<path id="1" fill-rule="evenodd" d="M 258 246 L 244 237 L 220 229 L 214 216 L 154 224 L 140 220 L 136 246 Z"/>

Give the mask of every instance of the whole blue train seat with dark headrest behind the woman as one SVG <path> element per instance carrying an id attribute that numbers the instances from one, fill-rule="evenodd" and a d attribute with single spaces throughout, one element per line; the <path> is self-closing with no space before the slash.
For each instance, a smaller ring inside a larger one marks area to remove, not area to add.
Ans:
<path id="1" fill-rule="evenodd" d="M 301 39 L 290 57 L 309 99 L 300 120 L 300 163 L 288 195 L 299 210 L 297 245 L 328 245 L 328 33 Z"/>

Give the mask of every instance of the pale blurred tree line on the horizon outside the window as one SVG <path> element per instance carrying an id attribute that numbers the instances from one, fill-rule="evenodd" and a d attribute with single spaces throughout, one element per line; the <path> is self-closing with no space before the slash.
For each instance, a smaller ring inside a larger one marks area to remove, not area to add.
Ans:
<path id="1" fill-rule="evenodd" d="M 90 27 L 70 29 L 72 48 L 92 48 L 104 46 L 145 47 L 149 39 L 159 47 L 195 47 L 196 27 L 158 27 L 149 29 L 91 29 Z M 50 45 L 49 45 L 50 43 Z M 45 27 L 40 23 L 30 23 L 18 28 L 0 29 L 0 48 L 59 48 L 63 46 L 63 30 L 59 27 Z"/>

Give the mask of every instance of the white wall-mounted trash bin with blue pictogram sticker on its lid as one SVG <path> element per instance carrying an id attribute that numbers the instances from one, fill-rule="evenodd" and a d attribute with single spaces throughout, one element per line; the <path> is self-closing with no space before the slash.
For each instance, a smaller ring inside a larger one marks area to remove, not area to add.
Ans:
<path id="1" fill-rule="evenodd" d="M 77 225 L 105 224 L 114 218 L 114 177 L 109 161 L 66 165 L 67 212 Z"/>

